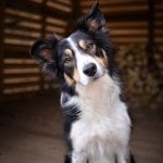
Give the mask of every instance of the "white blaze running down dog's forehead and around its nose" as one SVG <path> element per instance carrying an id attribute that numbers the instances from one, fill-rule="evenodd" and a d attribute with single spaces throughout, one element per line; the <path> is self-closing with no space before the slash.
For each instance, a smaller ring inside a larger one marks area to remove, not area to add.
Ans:
<path id="1" fill-rule="evenodd" d="M 97 65 L 97 75 L 100 76 L 103 73 L 101 65 L 92 57 L 78 49 L 78 42 L 74 41 L 72 36 L 67 38 L 67 41 L 74 51 L 80 84 L 87 85 L 91 80 L 91 78 L 85 75 L 83 72 L 84 67 L 89 63 L 95 63 Z"/>

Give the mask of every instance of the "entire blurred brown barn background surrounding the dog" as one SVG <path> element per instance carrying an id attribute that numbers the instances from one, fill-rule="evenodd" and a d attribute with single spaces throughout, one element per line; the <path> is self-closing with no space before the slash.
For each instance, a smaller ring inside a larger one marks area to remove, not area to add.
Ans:
<path id="1" fill-rule="evenodd" d="M 93 0 L 0 1 L 0 162 L 62 163 L 65 152 L 58 85 L 28 51 L 61 38 Z M 100 0 L 123 91 L 134 117 L 138 163 L 163 163 L 163 0 Z"/>

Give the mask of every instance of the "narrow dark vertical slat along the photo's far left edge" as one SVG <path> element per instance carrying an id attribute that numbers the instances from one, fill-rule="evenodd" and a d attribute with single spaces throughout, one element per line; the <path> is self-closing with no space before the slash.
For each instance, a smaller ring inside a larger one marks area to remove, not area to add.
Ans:
<path id="1" fill-rule="evenodd" d="M 4 0 L 0 1 L 0 102 L 3 101 Z"/>

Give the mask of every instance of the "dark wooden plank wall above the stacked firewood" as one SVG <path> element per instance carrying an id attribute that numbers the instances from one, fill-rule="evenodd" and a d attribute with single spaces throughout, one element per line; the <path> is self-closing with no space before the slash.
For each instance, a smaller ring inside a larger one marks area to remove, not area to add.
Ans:
<path id="1" fill-rule="evenodd" d="M 115 45 L 148 43 L 149 1 L 154 8 L 154 40 L 163 43 L 162 0 L 100 0 L 100 7 L 108 21 L 108 27 Z M 82 12 L 87 13 L 93 0 L 80 1 Z"/>

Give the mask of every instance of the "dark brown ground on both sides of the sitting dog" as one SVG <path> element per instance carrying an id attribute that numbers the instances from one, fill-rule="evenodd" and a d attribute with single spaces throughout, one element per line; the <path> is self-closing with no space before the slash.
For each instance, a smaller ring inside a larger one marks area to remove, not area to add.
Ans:
<path id="1" fill-rule="evenodd" d="M 131 110 L 137 163 L 163 163 L 163 112 Z M 45 95 L 0 104 L 0 163 L 63 163 L 59 97 Z"/>

